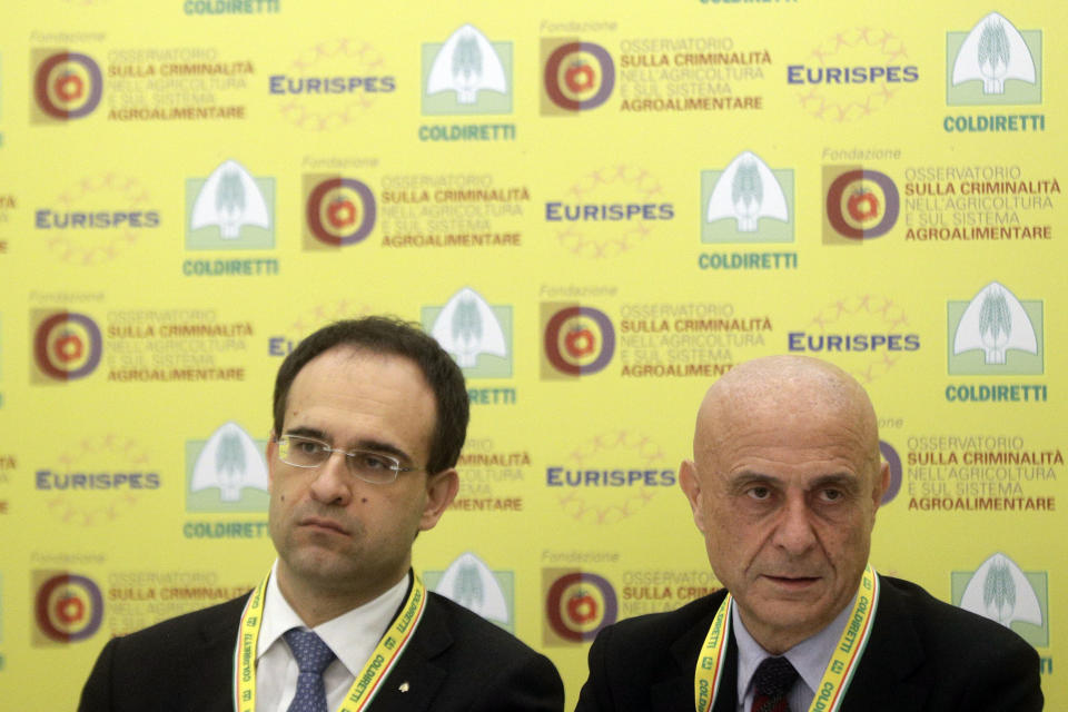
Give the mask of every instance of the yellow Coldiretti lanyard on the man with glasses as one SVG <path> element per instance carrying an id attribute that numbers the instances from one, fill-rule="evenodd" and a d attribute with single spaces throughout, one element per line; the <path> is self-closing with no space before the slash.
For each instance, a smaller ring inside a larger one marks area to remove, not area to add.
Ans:
<path id="1" fill-rule="evenodd" d="M 270 574 L 267 574 L 267 578 Z M 237 631 L 237 650 L 234 651 L 234 710 L 256 712 L 256 647 L 259 644 L 259 627 L 264 622 L 264 596 L 267 578 L 253 591 L 241 613 L 241 626 Z M 426 607 L 426 586 L 418 576 L 412 576 L 412 589 L 397 616 L 390 621 L 375 652 L 367 659 L 364 669 L 356 675 L 338 712 L 359 712 L 367 709 L 386 675 L 393 670 L 400 653 L 412 640 L 423 611 Z"/>

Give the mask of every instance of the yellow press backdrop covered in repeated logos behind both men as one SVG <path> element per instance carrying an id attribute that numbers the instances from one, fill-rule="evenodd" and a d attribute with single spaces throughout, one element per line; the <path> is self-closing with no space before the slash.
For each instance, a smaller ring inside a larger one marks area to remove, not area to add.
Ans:
<path id="1" fill-rule="evenodd" d="M 427 585 L 557 664 L 719 583 L 678 486 L 732 365 L 852 373 L 872 564 L 1068 706 L 1060 3 L 44 0 L 0 27 L 0 699 L 273 558 L 270 394 L 337 318 L 455 357 Z"/>

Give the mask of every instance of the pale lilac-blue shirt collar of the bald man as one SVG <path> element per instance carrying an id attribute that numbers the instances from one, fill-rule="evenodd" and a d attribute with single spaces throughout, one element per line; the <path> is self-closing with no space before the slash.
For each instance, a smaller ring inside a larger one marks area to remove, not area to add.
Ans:
<path id="1" fill-rule="evenodd" d="M 827 666 L 831 662 L 831 655 L 834 654 L 834 647 L 838 645 L 842 631 L 846 630 L 846 624 L 849 622 L 849 614 L 853 610 L 856 602 L 857 595 L 854 594 L 849 604 L 841 610 L 827 627 L 783 653 L 783 656 L 785 656 L 785 659 L 790 661 L 790 664 L 793 665 L 793 669 L 798 671 L 798 674 L 812 695 L 815 695 L 815 691 L 820 686 L 820 681 L 823 680 L 823 673 L 827 672 Z M 736 602 L 731 606 L 731 622 L 734 625 L 734 640 L 738 643 L 738 699 L 741 700 L 749 691 L 749 685 L 753 681 L 753 674 L 756 672 L 758 665 L 760 665 L 764 657 L 771 655 L 771 653 L 765 651 L 761 644 L 750 635 L 745 629 L 745 624 L 742 623 L 742 616 L 738 612 Z"/>

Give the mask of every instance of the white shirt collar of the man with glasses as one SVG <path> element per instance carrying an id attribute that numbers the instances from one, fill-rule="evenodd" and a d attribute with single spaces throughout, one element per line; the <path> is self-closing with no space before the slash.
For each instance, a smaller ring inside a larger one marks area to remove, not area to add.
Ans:
<path id="1" fill-rule="evenodd" d="M 374 652 L 375 645 L 382 640 L 386 626 L 400 607 L 404 595 L 408 592 L 411 578 L 409 573 L 377 599 L 320 623 L 314 629 L 308 629 L 281 595 L 281 590 L 278 587 L 278 561 L 275 560 L 265 593 L 264 622 L 256 647 L 257 662 L 286 631 L 298 627 L 314 631 L 324 643 L 330 646 L 349 674 L 358 674 Z M 283 641 L 278 644 L 286 643 Z"/>

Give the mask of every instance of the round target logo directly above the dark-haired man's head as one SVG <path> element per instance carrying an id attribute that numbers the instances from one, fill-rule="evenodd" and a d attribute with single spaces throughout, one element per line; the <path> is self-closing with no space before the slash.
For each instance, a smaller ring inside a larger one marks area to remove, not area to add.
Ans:
<path id="1" fill-rule="evenodd" d="M 319 241 L 342 247 L 362 241 L 375 227 L 375 196 L 352 178 L 332 178 L 308 196 L 308 228 Z"/>

